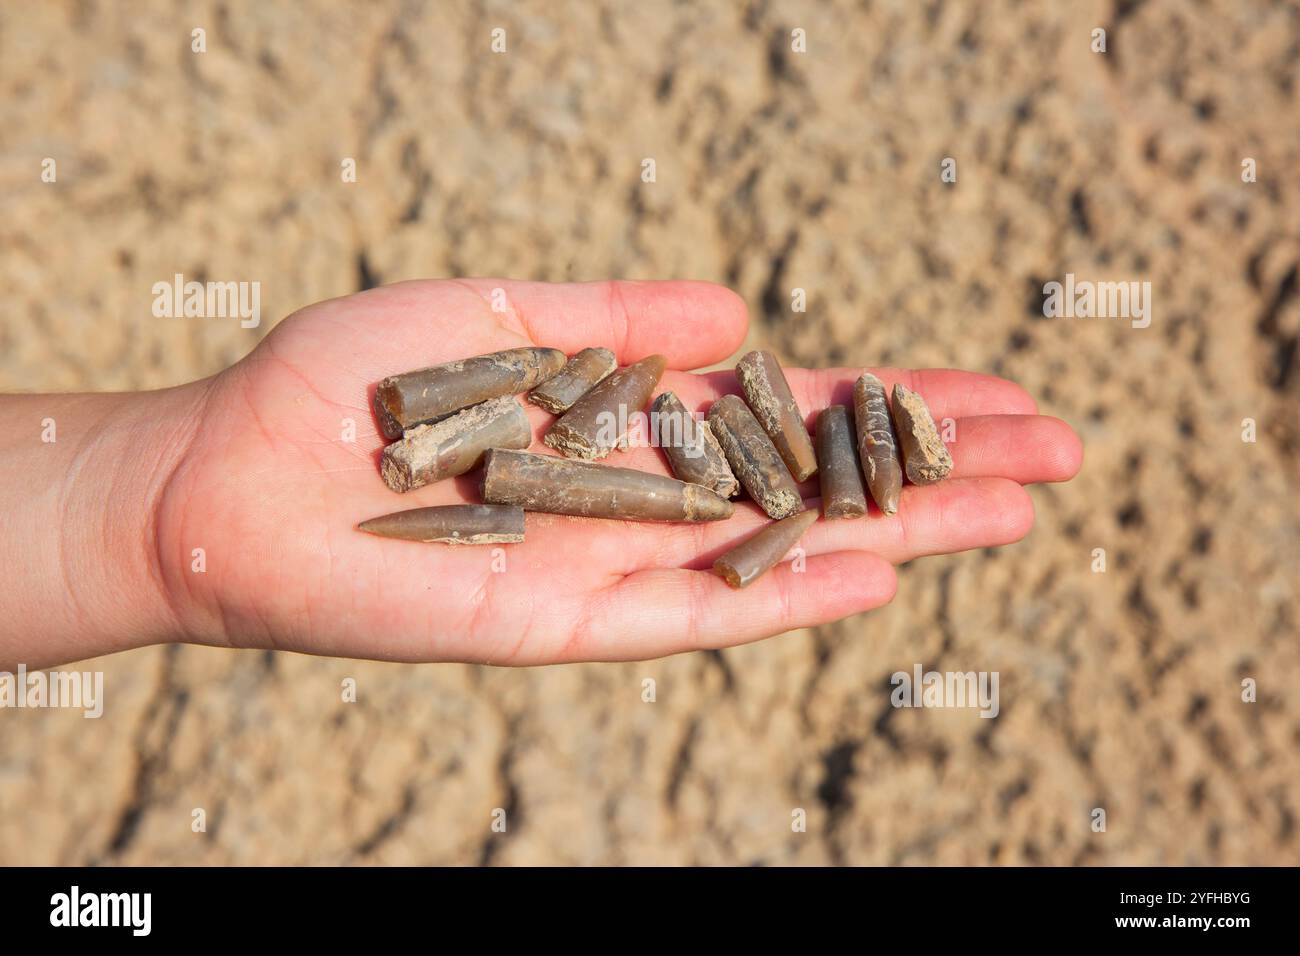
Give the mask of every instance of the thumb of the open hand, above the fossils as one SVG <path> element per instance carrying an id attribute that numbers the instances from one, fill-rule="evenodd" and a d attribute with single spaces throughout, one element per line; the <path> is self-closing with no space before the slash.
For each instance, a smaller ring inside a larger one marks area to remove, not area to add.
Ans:
<path id="1" fill-rule="evenodd" d="M 722 362 L 745 341 L 745 300 L 712 282 L 504 282 L 467 280 L 506 293 L 511 316 L 537 345 L 568 354 L 603 346 L 619 364 L 660 354 L 670 368 Z"/>

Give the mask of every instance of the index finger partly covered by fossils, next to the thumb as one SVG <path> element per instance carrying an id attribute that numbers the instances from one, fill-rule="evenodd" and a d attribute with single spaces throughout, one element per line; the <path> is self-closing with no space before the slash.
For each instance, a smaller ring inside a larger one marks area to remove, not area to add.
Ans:
<path id="1" fill-rule="evenodd" d="M 966 418 L 971 415 L 1035 415 L 1037 403 L 1034 398 L 1015 382 L 998 378 L 992 375 L 978 372 L 962 372 L 954 368 L 918 368 L 909 371 L 905 368 L 788 368 L 785 377 L 790 382 L 790 392 L 800 410 L 807 418 L 809 427 L 812 427 L 816 414 L 829 405 L 844 405 L 853 407 L 853 384 L 863 371 L 884 382 L 885 392 L 893 392 L 896 382 L 916 392 L 926 405 L 935 421 L 952 418 Z M 681 376 L 664 376 L 664 381 L 681 382 Z M 740 382 L 734 372 L 710 372 L 696 376 L 696 381 L 702 385 L 698 390 L 690 390 L 694 401 L 699 405 L 710 405 L 719 395 L 734 394 L 740 392 Z M 662 385 L 666 390 L 668 385 Z M 686 385 L 682 384 L 684 390 Z M 682 402 L 686 398 L 679 395 Z M 686 405 L 688 408 L 697 410 L 697 405 Z"/>

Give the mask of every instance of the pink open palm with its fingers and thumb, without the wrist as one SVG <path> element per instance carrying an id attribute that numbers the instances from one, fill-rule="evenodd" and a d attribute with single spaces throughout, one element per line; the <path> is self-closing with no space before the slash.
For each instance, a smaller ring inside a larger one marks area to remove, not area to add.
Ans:
<path id="1" fill-rule="evenodd" d="M 863 519 L 818 522 L 802 541 L 802 572 L 783 564 L 742 592 L 707 568 L 767 522 L 749 502 L 729 520 L 701 525 L 529 514 L 526 540 L 503 555 L 355 531 L 390 511 L 480 501 L 477 472 L 404 496 L 385 488 L 377 472 L 385 442 L 369 408 L 384 376 L 525 345 L 567 354 L 606 346 L 620 364 L 666 355 L 659 390 L 702 411 L 737 390 L 734 377 L 680 369 L 725 359 L 746 321 L 737 295 L 703 282 L 417 281 L 295 313 L 209 382 L 194 442 L 160 505 L 169 584 L 200 609 L 191 636 L 514 665 L 741 644 L 888 602 L 896 563 L 1019 540 L 1034 522 L 1022 485 L 1065 480 L 1079 467 L 1074 432 L 1039 416 L 1019 386 L 885 368 L 872 371 L 887 388 L 904 381 L 936 420 L 956 420 L 952 480 L 906 486 L 893 518 L 872 509 Z M 862 369 L 786 372 L 811 423 L 827 405 L 852 406 Z M 533 450 L 549 453 L 541 436 L 552 416 L 526 408 Z M 667 473 L 653 447 L 607 463 Z M 814 480 L 805 497 L 815 489 Z M 199 548 L 203 574 L 192 570 Z"/>

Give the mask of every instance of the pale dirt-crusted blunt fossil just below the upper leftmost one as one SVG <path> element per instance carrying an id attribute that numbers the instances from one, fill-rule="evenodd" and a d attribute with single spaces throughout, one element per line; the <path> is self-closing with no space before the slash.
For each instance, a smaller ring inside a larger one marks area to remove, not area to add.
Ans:
<path id="1" fill-rule="evenodd" d="M 488 449 L 526 449 L 528 415 L 514 395 L 493 398 L 432 425 L 416 425 L 384 449 L 380 473 L 394 492 L 464 475 Z"/>

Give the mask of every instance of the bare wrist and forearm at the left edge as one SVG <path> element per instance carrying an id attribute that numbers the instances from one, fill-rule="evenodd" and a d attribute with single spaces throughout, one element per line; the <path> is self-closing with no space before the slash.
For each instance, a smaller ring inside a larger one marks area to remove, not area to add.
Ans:
<path id="1" fill-rule="evenodd" d="M 146 393 L 0 399 L 0 669 L 84 659 L 181 637 L 159 515 L 208 382 Z"/>

